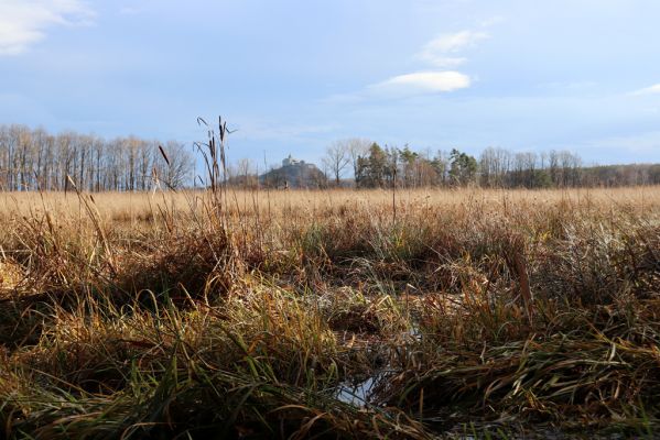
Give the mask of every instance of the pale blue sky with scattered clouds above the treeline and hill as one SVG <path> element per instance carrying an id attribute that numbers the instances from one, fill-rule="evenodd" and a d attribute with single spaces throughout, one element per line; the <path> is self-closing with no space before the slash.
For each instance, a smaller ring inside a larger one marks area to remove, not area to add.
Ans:
<path id="1" fill-rule="evenodd" d="M 0 0 L 0 123 L 660 162 L 658 0 Z"/>

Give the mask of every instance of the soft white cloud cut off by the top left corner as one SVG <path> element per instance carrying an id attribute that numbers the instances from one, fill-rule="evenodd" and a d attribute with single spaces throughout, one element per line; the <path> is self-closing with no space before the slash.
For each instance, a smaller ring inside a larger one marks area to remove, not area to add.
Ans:
<path id="1" fill-rule="evenodd" d="M 51 26 L 89 24 L 93 18 L 80 0 L 1 0 L 0 56 L 24 52 Z"/>

